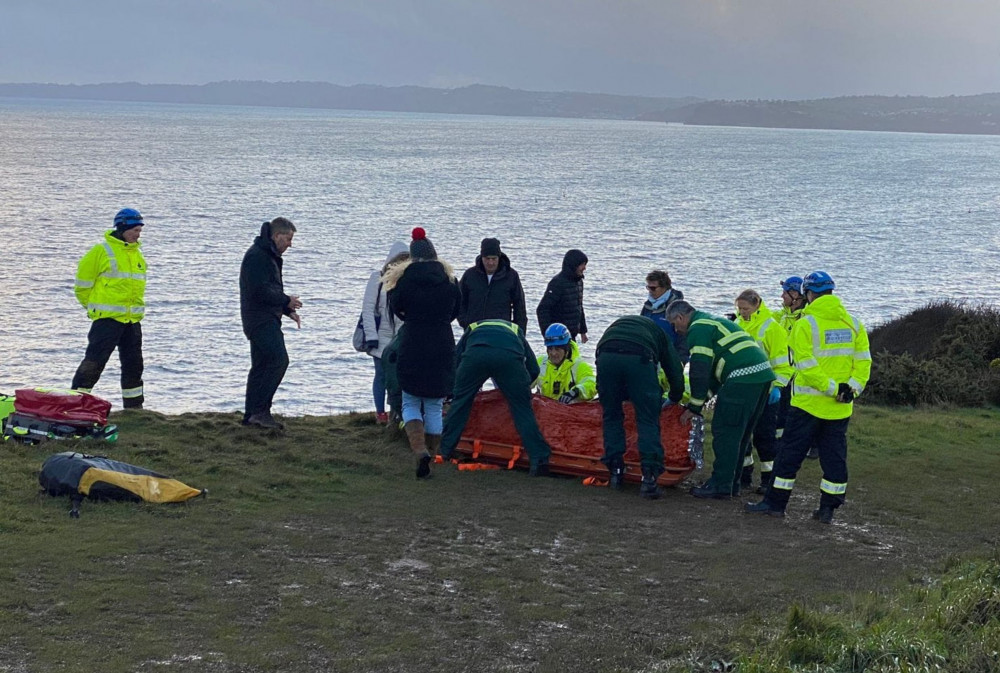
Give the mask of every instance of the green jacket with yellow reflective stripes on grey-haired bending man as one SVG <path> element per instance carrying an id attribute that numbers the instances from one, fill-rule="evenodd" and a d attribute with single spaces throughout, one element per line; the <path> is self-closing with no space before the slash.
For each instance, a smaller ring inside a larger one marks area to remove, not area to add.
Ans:
<path id="1" fill-rule="evenodd" d="M 729 381 L 764 383 L 775 379 L 767 354 L 739 325 L 718 316 L 695 311 L 687 333 L 691 348 L 691 401 L 696 414 L 711 392 Z"/>

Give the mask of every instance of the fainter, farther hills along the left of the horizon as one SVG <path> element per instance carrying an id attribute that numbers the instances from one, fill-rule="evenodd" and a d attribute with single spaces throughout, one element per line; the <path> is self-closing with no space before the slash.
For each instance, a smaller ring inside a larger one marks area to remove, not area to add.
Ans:
<path id="1" fill-rule="evenodd" d="M 473 85 L 458 89 L 383 87 L 325 82 L 211 82 L 209 84 L 0 84 L 0 97 L 63 98 L 205 105 L 253 105 L 392 112 L 444 112 L 524 117 L 637 119 L 697 102 L 575 92 L 536 92 Z"/>

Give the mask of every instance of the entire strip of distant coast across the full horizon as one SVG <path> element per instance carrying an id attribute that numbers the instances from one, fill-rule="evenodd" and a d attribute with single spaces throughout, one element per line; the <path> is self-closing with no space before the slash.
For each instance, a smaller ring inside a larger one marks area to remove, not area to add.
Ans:
<path id="1" fill-rule="evenodd" d="M 224 81 L 197 85 L 0 84 L 0 97 L 623 119 L 701 126 L 1000 134 L 1000 93 L 941 98 L 842 96 L 802 101 L 728 101 L 524 91 L 482 84 L 435 89 Z"/>

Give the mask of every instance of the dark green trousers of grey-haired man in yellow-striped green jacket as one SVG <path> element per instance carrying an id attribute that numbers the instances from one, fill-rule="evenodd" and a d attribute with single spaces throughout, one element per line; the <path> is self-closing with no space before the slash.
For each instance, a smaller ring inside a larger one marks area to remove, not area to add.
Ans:
<path id="1" fill-rule="evenodd" d="M 740 492 L 743 460 L 750 451 L 757 419 L 767 406 L 771 382 L 724 383 L 712 415 L 712 477 L 708 484 L 720 493 Z"/>

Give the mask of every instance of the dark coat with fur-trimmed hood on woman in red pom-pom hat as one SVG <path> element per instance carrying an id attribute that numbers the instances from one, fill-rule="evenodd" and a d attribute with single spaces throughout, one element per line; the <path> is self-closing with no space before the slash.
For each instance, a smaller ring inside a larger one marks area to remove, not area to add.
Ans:
<path id="1" fill-rule="evenodd" d="M 397 375 L 404 392 L 446 397 L 455 384 L 455 335 L 462 294 L 451 268 L 438 260 L 391 267 L 382 279 L 389 307 L 404 321 L 398 341 Z"/>

